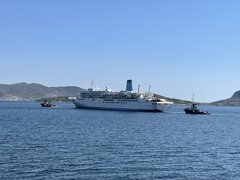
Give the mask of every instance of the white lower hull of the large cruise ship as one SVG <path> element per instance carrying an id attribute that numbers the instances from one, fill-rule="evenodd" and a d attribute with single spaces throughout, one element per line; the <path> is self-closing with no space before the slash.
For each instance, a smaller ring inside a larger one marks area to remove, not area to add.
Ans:
<path id="1" fill-rule="evenodd" d="M 151 103 L 143 100 L 112 100 L 103 99 L 77 99 L 73 102 L 79 109 L 98 109 L 115 111 L 145 111 L 163 112 L 169 107 L 167 104 Z"/>

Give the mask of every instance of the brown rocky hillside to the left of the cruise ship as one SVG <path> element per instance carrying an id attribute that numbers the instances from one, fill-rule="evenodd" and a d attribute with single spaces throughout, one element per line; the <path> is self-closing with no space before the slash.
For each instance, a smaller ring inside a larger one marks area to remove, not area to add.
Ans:
<path id="1" fill-rule="evenodd" d="M 36 100 L 43 97 L 77 96 L 80 87 L 47 87 L 36 83 L 0 84 L 0 100 Z"/>

